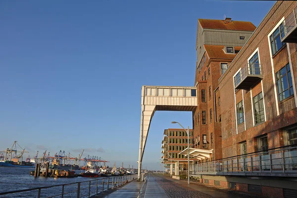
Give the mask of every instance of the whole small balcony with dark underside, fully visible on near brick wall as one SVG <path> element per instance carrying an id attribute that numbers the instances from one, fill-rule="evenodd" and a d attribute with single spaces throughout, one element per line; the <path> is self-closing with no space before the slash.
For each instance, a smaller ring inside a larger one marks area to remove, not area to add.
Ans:
<path id="1" fill-rule="evenodd" d="M 262 65 L 247 63 L 234 77 L 235 89 L 248 90 L 263 79 Z"/>

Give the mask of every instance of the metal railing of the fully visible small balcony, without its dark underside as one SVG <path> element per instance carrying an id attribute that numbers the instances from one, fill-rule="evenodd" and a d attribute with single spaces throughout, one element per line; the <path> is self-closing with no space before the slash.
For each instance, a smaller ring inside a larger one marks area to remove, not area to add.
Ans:
<path id="1" fill-rule="evenodd" d="M 247 63 L 234 78 L 235 87 L 239 85 L 247 76 L 263 76 L 262 65 L 258 63 Z"/>

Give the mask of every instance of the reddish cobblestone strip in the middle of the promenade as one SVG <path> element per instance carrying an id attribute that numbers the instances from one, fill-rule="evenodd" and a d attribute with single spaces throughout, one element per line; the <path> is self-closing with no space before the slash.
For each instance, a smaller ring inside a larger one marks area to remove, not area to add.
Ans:
<path id="1" fill-rule="evenodd" d="M 212 196 L 201 193 L 192 188 L 180 186 L 179 184 L 164 179 L 162 177 L 155 177 L 156 182 L 164 189 L 166 194 L 171 198 L 212 198 Z"/>

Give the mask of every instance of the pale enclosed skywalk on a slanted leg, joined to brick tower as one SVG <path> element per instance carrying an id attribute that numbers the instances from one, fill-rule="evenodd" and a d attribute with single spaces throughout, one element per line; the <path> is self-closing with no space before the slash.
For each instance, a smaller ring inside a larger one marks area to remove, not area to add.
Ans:
<path id="1" fill-rule="evenodd" d="M 142 86 L 138 179 L 140 179 L 150 121 L 155 111 L 193 112 L 197 106 L 195 86 Z"/>

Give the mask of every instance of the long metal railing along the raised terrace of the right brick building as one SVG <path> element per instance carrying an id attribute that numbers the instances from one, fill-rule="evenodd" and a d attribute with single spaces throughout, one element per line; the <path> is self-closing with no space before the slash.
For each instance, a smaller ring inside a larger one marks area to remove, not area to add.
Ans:
<path id="1" fill-rule="evenodd" d="M 297 174 L 297 145 L 192 164 L 190 168 L 192 176 L 201 174 L 293 176 L 294 173 Z"/>

